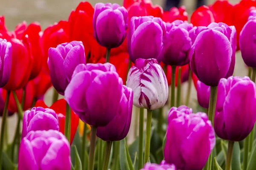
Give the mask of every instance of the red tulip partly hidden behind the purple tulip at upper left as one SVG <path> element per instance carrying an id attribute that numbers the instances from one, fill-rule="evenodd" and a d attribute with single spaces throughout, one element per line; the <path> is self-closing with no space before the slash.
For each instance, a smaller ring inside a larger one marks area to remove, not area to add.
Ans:
<path id="1" fill-rule="evenodd" d="M 50 25 L 44 30 L 41 38 L 41 45 L 43 48 L 44 59 L 43 59 L 43 70 L 45 73 L 49 73 L 47 65 L 48 50 L 49 48 L 56 48 L 57 45 L 70 42 L 69 41 L 69 24 L 67 21 L 60 21 L 54 25 Z M 45 64 L 44 64 L 45 63 Z"/>

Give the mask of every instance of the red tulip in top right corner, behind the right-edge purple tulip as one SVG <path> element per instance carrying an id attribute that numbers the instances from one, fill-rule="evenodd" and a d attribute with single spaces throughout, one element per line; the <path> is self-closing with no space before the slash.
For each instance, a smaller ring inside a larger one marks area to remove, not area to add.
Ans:
<path id="1" fill-rule="evenodd" d="M 236 42 L 237 48 L 239 50 L 239 35 L 246 24 L 249 13 L 251 10 L 256 9 L 256 1 L 254 0 L 241 0 L 240 3 L 234 6 L 233 12 L 233 26 L 236 27 Z"/>

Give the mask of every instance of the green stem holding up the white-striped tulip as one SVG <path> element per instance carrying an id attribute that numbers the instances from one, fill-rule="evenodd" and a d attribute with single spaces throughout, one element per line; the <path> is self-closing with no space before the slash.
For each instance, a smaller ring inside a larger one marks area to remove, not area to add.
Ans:
<path id="1" fill-rule="evenodd" d="M 150 135 L 151 135 L 152 113 L 153 113 L 152 110 L 150 109 L 147 110 L 144 164 L 148 162 L 149 155 L 150 155 Z"/>

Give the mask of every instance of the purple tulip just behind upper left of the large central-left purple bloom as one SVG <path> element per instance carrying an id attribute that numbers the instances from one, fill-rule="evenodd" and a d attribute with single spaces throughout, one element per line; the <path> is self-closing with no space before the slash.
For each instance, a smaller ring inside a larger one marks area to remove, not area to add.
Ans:
<path id="1" fill-rule="evenodd" d="M 85 64 L 84 45 L 81 41 L 66 42 L 49 48 L 48 55 L 52 85 L 59 94 L 64 95 L 76 66 Z"/>

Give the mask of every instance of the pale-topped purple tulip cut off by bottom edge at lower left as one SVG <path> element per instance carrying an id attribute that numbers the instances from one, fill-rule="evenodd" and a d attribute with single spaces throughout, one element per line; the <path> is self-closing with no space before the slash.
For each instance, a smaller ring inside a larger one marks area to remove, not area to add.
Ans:
<path id="1" fill-rule="evenodd" d="M 20 142 L 18 170 L 70 170 L 70 144 L 57 130 L 31 131 Z"/>

